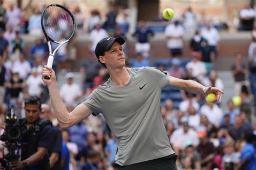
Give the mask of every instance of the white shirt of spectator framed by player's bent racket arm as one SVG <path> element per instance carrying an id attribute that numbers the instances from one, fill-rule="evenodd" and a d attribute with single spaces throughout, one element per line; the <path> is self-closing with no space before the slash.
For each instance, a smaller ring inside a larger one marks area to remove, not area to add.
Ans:
<path id="1" fill-rule="evenodd" d="M 82 95 L 82 91 L 76 83 L 72 83 L 71 85 L 67 83 L 63 84 L 60 87 L 59 93 L 66 105 L 76 104 L 76 98 Z"/>

